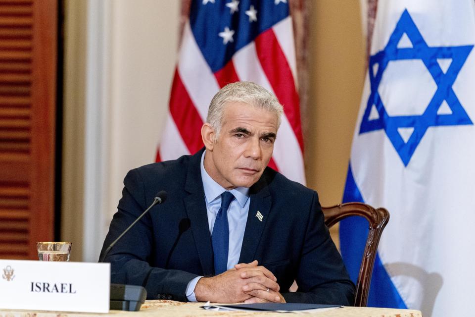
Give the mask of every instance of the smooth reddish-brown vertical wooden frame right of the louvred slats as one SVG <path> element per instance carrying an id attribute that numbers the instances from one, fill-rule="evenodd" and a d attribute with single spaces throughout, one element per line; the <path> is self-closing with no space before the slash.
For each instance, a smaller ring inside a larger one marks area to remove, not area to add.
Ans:
<path id="1" fill-rule="evenodd" d="M 33 2 L 30 254 L 36 242 L 54 239 L 56 133 L 56 0 Z"/>

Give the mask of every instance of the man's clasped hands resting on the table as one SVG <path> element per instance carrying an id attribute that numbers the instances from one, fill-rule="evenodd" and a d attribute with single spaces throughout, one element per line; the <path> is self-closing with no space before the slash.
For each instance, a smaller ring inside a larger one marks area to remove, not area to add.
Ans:
<path id="1" fill-rule="evenodd" d="M 277 278 L 257 261 L 236 264 L 213 277 L 202 277 L 196 284 L 196 300 L 213 303 L 285 303 Z"/>

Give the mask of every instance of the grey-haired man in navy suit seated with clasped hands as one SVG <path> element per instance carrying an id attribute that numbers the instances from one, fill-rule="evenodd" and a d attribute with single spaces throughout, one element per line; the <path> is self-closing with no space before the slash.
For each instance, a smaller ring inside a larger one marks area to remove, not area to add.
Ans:
<path id="1" fill-rule="evenodd" d="M 351 305 L 317 193 L 267 167 L 282 112 L 264 88 L 229 84 L 211 101 L 205 149 L 131 170 L 104 247 L 159 190 L 169 198 L 107 255 L 111 281 L 155 299 Z"/>

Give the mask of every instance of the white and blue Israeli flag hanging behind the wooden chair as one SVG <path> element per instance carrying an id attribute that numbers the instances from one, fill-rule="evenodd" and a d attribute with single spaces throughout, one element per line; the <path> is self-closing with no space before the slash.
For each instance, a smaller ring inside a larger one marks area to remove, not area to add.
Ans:
<path id="1" fill-rule="evenodd" d="M 475 2 L 379 1 L 343 201 L 390 212 L 368 306 L 473 316 Z M 356 280 L 366 220 L 341 223 Z"/>

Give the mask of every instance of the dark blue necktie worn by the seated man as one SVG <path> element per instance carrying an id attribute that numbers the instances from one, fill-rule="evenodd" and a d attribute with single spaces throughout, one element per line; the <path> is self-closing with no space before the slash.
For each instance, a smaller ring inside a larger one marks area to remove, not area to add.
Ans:
<path id="1" fill-rule="evenodd" d="M 230 192 L 221 194 L 221 207 L 214 221 L 211 241 L 214 253 L 214 273 L 216 275 L 228 269 L 229 224 L 228 208 L 234 196 Z"/>

